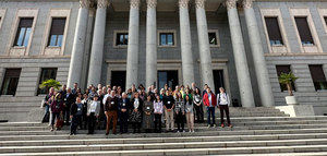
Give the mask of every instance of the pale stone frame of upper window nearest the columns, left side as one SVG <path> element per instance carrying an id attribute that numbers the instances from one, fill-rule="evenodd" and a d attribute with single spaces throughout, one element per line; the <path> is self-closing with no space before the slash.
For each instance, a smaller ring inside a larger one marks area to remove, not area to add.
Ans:
<path id="1" fill-rule="evenodd" d="M 44 32 L 43 49 L 40 50 L 41 56 L 63 56 L 64 55 L 69 24 L 70 24 L 70 16 L 71 16 L 71 9 L 50 9 L 49 14 L 48 14 L 48 21 L 47 21 L 46 28 Z M 52 20 L 56 17 L 65 17 L 65 24 L 64 24 L 61 47 L 48 46 Z"/>

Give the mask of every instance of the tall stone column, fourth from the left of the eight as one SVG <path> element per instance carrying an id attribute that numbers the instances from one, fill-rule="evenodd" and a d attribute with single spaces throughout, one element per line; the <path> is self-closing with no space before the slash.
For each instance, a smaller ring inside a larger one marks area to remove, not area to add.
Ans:
<path id="1" fill-rule="evenodd" d="M 147 0 L 146 11 L 146 87 L 157 84 L 157 0 Z"/>

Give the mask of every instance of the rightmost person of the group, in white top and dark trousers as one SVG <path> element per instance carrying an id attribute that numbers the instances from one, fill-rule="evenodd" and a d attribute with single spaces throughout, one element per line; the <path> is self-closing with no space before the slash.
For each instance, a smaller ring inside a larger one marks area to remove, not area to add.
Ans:
<path id="1" fill-rule="evenodd" d="M 223 87 L 219 88 L 219 94 L 217 95 L 217 106 L 220 109 L 220 123 L 221 123 L 221 128 L 225 127 L 223 124 L 223 111 L 226 113 L 226 118 L 227 118 L 227 123 L 228 127 L 232 127 L 230 123 L 230 118 L 229 118 L 229 105 L 230 105 L 230 99 L 229 99 L 229 95 L 225 92 Z"/>

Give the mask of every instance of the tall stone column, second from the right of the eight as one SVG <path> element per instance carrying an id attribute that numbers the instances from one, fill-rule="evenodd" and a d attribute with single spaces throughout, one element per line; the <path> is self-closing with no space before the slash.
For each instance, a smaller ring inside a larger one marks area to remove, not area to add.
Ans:
<path id="1" fill-rule="evenodd" d="M 240 87 L 241 103 L 243 107 L 255 107 L 243 35 L 241 32 L 241 25 L 237 10 L 237 0 L 227 0 L 226 5 Z"/>

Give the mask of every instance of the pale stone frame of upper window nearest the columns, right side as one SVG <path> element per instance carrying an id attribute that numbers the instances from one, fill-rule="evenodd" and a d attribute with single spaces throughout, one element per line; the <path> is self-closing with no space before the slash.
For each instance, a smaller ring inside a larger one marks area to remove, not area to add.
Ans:
<path id="1" fill-rule="evenodd" d="M 262 24 L 264 26 L 264 31 L 265 31 L 264 33 L 265 33 L 265 36 L 266 36 L 266 43 L 267 43 L 267 46 L 268 46 L 268 49 L 269 49 L 269 53 L 288 53 L 288 52 L 291 52 L 289 40 L 288 40 L 288 35 L 287 35 L 287 32 L 286 32 L 286 28 L 284 28 L 284 25 L 283 25 L 283 19 L 282 19 L 282 15 L 281 15 L 281 12 L 280 12 L 279 8 L 276 8 L 276 9 L 275 8 L 262 8 L 261 9 L 261 14 L 262 14 Z M 279 31 L 280 31 L 281 38 L 282 38 L 282 41 L 283 41 L 282 46 L 278 46 L 278 45 L 271 46 L 270 45 L 270 38 L 269 38 L 269 35 L 268 35 L 268 29 L 267 29 L 265 17 L 277 17 L 278 25 L 279 25 Z"/>

